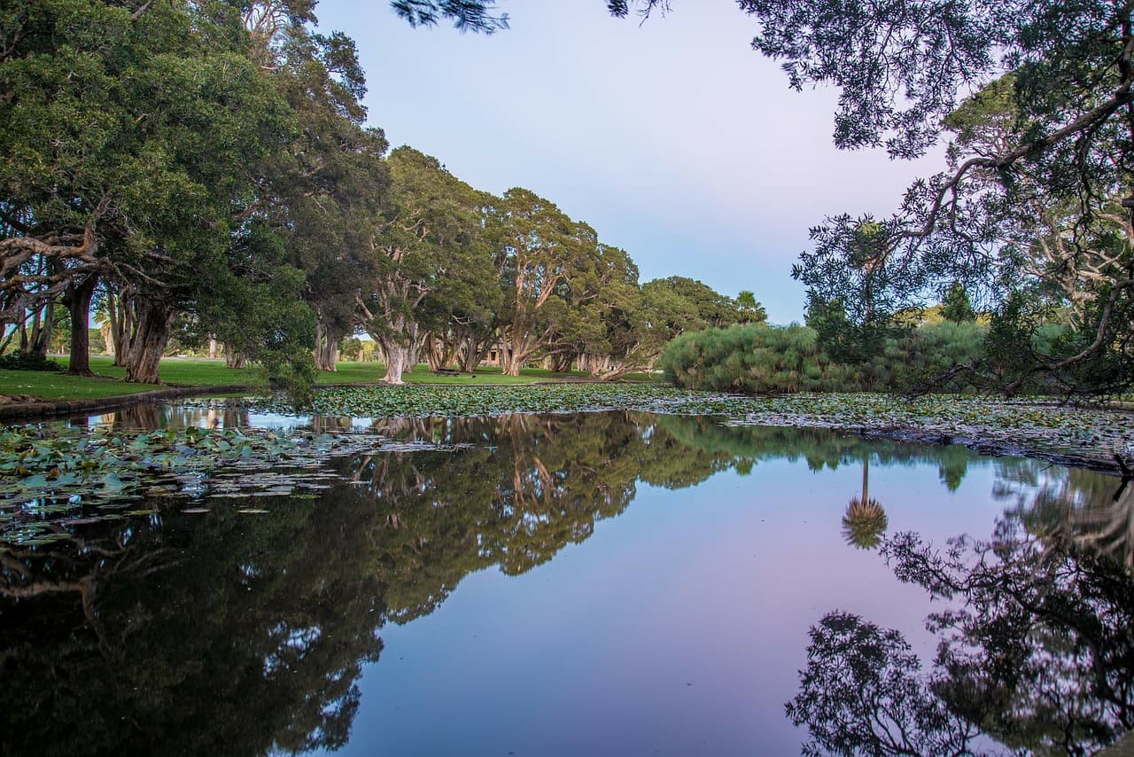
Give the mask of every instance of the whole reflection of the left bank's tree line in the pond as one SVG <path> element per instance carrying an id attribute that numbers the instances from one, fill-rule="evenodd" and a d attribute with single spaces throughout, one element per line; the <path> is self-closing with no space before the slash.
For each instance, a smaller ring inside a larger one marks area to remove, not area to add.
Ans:
<path id="1" fill-rule="evenodd" d="M 246 424 L 242 413 L 219 420 Z M 60 541 L 0 552 L 0 754 L 335 749 L 387 623 L 433 612 L 474 571 L 515 575 L 551 560 L 624 512 L 640 481 L 682 488 L 727 469 L 759 474 L 763 461 L 821 470 L 869 457 L 931 462 L 948 483 L 973 459 L 626 412 L 398 419 L 372 430 L 405 451 L 340 460 L 344 480 L 318 501 L 226 499 L 185 514 L 184 499 L 150 499 L 130 505 L 150 514 L 91 510 L 53 527 Z M 903 701 L 898 712 L 924 705 Z"/>

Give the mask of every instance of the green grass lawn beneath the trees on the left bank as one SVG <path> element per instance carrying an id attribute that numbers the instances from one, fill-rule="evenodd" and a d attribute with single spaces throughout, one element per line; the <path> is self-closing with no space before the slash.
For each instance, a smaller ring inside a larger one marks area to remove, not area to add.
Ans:
<path id="1" fill-rule="evenodd" d="M 56 359 L 66 365 L 67 359 Z M 116 368 L 110 358 L 92 356 L 91 370 L 95 378 L 64 376 L 53 371 L 0 370 L 0 394 L 22 394 L 45 401 L 88 399 L 113 397 L 122 394 L 149 392 L 160 388 L 149 384 L 130 384 L 125 380 L 126 369 Z M 338 370 L 320 371 L 319 384 L 367 384 L 379 381 L 386 375 L 381 363 L 341 362 Z M 503 376 L 500 369 L 480 368 L 472 376 L 441 376 L 431 373 L 424 364 L 404 375 L 407 384 L 456 384 L 462 386 L 516 385 L 535 381 L 557 381 L 585 377 L 585 373 L 553 373 L 542 369 L 524 369 L 521 376 Z M 221 386 L 255 385 L 252 369 L 232 370 L 223 360 L 206 358 L 164 358 L 161 361 L 163 386 Z"/>

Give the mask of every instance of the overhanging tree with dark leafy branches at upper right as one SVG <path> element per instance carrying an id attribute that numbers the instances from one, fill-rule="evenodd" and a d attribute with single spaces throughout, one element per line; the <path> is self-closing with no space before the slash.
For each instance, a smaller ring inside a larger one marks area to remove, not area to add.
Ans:
<path id="1" fill-rule="evenodd" d="M 915 158 L 951 134 L 948 169 L 915 182 L 885 220 L 828 218 L 793 275 L 839 300 L 890 312 L 949 283 L 993 310 L 1013 295 L 1059 293 L 1082 317 L 1047 350 L 1022 339 L 1009 393 L 1035 376 L 1066 393 L 1134 384 L 1134 8 L 1106 0 L 739 0 L 758 23 L 753 48 L 782 61 L 793 89 L 841 92 L 833 141 Z M 665 11 L 666 0 L 611 0 L 616 16 Z M 967 99 L 966 99 L 967 95 Z M 868 292 L 855 230 L 883 243 Z M 1034 335 L 1030 335 L 1034 336 Z"/>

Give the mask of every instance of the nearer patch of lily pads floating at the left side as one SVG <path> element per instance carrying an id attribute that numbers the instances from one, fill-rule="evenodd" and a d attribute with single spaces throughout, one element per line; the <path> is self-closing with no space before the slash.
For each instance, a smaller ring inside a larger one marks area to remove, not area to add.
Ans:
<path id="1" fill-rule="evenodd" d="M 143 497 L 201 501 L 327 489 L 337 476 L 323 466 L 340 455 L 457 448 L 305 429 L 120 431 L 57 423 L 0 428 L 0 540 L 45 544 L 65 538 L 50 523 L 79 524 L 84 519 L 59 518 L 83 507 L 100 511 L 99 521 L 153 514 L 137 506 Z"/>

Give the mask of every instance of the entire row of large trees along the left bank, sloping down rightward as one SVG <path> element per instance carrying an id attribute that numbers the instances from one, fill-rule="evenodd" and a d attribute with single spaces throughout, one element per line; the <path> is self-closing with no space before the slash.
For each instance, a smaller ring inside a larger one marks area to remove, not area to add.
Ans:
<path id="1" fill-rule="evenodd" d="M 346 35 L 310 0 L 16 0 L 0 11 L 0 352 L 90 373 L 88 313 L 129 380 L 171 342 L 223 345 L 280 385 L 367 334 L 388 380 L 497 348 L 613 377 L 688 328 L 759 320 L 629 255 L 535 193 L 493 196 L 411 148 L 387 154 Z M 395 2 L 492 32 L 476 3 Z M 491 3 L 485 3 L 491 5 Z M 34 360 L 32 361 L 34 362 Z"/>

